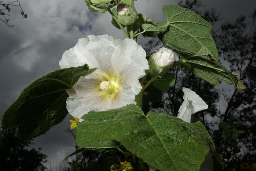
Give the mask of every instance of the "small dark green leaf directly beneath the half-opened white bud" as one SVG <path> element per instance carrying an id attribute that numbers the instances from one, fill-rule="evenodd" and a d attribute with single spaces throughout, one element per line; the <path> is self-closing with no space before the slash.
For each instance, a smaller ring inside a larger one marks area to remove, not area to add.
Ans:
<path id="1" fill-rule="evenodd" d="M 168 91 L 175 83 L 175 74 L 167 73 L 161 78 L 156 78 L 152 84 L 160 91 Z"/>

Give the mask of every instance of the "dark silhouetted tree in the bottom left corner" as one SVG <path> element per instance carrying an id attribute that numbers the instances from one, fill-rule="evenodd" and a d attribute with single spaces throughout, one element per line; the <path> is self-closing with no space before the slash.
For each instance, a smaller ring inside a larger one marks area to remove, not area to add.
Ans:
<path id="1" fill-rule="evenodd" d="M 41 148 L 29 149 L 32 140 L 23 140 L 17 129 L 0 130 L 0 170 L 1 171 L 45 171 L 43 163 L 46 155 Z"/>

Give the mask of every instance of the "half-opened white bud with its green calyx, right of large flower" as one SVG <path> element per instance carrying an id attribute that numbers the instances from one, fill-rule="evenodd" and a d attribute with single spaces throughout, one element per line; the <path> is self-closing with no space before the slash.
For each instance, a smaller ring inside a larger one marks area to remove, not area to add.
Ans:
<path id="1" fill-rule="evenodd" d="M 179 56 L 171 49 L 162 47 L 158 52 L 149 58 L 150 72 L 152 74 L 160 74 L 164 68 L 172 65 L 175 61 L 179 61 Z"/>

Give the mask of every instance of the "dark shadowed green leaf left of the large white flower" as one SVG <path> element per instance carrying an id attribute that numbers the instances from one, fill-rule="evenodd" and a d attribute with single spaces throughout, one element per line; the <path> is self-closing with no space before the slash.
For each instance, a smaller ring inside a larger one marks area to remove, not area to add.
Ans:
<path id="1" fill-rule="evenodd" d="M 35 80 L 4 112 L 2 129 L 19 126 L 19 135 L 23 138 L 44 134 L 67 115 L 66 99 L 69 95 L 66 90 L 71 89 L 80 76 L 94 70 L 87 65 L 65 68 Z"/>

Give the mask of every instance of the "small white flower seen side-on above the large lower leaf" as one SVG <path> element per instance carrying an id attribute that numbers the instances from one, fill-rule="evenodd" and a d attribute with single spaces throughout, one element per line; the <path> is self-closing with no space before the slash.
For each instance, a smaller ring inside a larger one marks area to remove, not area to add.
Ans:
<path id="1" fill-rule="evenodd" d="M 184 93 L 184 101 L 181 107 L 179 107 L 179 114 L 177 117 L 190 123 L 191 115 L 198 111 L 208 109 L 208 105 L 196 94 L 196 92 L 185 87 L 182 88 L 182 91 Z"/>

